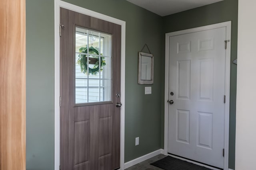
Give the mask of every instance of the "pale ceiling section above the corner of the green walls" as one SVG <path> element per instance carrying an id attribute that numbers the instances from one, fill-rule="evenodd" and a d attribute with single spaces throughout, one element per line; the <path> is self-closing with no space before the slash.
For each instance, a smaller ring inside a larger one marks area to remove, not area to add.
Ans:
<path id="1" fill-rule="evenodd" d="M 167 16 L 222 0 L 127 0 L 160 16 Z"/>

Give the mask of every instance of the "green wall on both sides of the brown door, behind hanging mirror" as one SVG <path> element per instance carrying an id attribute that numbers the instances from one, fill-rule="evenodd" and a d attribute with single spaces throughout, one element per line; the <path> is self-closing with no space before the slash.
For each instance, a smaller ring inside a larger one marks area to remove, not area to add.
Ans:
<path id="1" fill-rule="evenodd" d="M 125 0 L 65 1 L 126 21 L 125 162 L 160 149 L 162 18 Z M 28 170 L 53 170 L 54 0 L 26 0 L 26 38 L 26 166 Z M 138 52 L 145 43 L 155 57 L 151 95 L 144 94 L 145 85 L 138 85 Z M 140 137 L 136 147 L 135 137 Z"/>

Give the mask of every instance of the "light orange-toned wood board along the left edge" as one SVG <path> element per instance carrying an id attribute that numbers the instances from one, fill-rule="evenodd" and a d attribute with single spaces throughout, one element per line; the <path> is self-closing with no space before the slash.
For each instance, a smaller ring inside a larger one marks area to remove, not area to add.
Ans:
<path id="1" fill-rule="evenodd" d="M 25 0 L 0 0 L 0 169 L 26 169 Z"/>

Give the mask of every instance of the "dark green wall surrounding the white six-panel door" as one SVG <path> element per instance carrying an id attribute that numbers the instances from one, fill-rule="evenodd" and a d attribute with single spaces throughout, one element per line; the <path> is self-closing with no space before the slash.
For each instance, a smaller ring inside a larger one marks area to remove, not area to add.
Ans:
<path id="1" fill-rule="evenodd" d="M 164 33 L 232 21 L 231 61 L 237 58 L 238 0 L 224 0 L 207 6 L 165 16 Z M 235 169 L 236 65 L 230 63 L 229 168 Z M 163 117 L 163 115 L 162 115 Z M 162 121 L 163 124 L 164 121 Z M 162 126 L 163 129 L 163 126 Z M 162 131 L 163 133 L 163 131 Z M 163 139 L 163 138 L 162 138 Z M 163 141 L 161 143 L 163 148 Z"/>

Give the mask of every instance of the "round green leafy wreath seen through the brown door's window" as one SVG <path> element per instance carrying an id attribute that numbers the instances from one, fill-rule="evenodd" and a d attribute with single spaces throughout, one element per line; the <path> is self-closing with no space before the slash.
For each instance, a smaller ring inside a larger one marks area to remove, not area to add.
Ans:
<path id="1" fill-rule="evenodd" d="M 87 45 L 86 45 L 86 47 L 81 47 L 79 49 L 79 52 L 80 53 L 87 53 Z M 89 47 L 89 54 L 99 55 L 100 53 L 99 53 L 98 49 L 96 49 L 94 47 Z M 89 67 L 87 65 L 87 55 L 80 54 L 80 55 L 78 55 L 78 57 L 79 58 L 77 60 L 77 63 L 80 65 L 81 72 L 83 72 L 84 74 L 87 74 L 87 68 Z M 100 58 L 101 58 L 100 59 L 100 68 L 99 68 L 99 56 L 97 56 L 97 57 L 92 56 L 92 57 L 89 58 L 89 64 L 90 64 L 90 61 L 95 62 L 93 68 L 89 67 L 89 70 L 88 70 L 89 75 L 90 74 L 91 75 L 97 75 L 99 70 L 102 71 L 102 66 L 106 65 L 106 61 L 103 60 L 104 57 L 100 57 Z"/>

